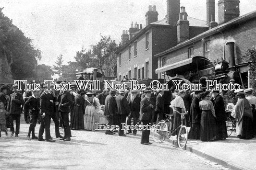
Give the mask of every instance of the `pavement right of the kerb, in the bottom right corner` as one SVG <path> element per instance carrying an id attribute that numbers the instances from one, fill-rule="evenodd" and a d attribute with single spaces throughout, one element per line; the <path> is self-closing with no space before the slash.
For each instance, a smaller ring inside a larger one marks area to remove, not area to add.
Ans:
<path id="1" fill-rule="evenodd" d="M 176 136 L 167 141 L 178 146 Z M 210 142 L 188 140 L 186 150 L 232 170 L 256 170 L 256 138 L 245 140 L 231 135 Z"/>

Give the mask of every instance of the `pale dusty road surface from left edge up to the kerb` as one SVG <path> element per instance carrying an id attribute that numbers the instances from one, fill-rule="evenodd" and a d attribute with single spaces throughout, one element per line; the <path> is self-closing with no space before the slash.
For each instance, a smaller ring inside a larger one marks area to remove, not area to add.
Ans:
<path id="1" fill-rule="evenodd" d="M 22 121 L 19 137 L 10 136 L 10 130 L 8 136 L 2 133 L 0 170 L 229 170 L 168 141 L 141 145 L 139 134 L 123 137 L 72 130 L 71 141 L 64 142 L 55 138 L 52 123 L 51 136 L 56 142 L 28 141 L 28 127 Z M 36 135 L 38 128 L 37 124 Z"/>

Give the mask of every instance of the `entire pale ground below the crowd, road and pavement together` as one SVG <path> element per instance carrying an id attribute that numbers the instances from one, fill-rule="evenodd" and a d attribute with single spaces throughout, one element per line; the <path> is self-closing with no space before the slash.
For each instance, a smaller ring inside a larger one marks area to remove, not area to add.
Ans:
<path id="1" fill-rule="evenodd" d="M 21 117 L 19 137 L 0 137 L 0 170 L 84 170 L 84 169 L 150 169 L 150 170 L 255 170 L 256 138 L 202 142 L 188 140 L 186 150 L 177 147 L 175 136 L 162 143 L 140 144 L 141 132 L 127 137 L 105 135 L 105 131 L 72 130 L 71 142 L 26 140 L 28 124 Z M 36 135 L 39 125 L 36 126 Z M 60 129 L 63 133 L 63 129 Z"/>

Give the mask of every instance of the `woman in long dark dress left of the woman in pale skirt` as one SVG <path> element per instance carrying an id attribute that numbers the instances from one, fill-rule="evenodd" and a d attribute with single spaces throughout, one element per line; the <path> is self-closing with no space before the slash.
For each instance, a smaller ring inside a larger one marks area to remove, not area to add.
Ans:
<path id="1" fill-rule="evenodd" d="M 85 99 L 85 91 L 77 91 L 78 95 L 74 97 L 74 109 L 73 109 L 73 117 L 71 119 L 70 128 L 72 129 L 84 129 L 84 103 Z"/>

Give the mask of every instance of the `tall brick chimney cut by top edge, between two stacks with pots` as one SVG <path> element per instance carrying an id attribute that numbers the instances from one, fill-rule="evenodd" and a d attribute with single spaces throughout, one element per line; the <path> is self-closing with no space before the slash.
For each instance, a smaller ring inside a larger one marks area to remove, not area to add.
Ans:
<path id="1" fill-rule="evenodd" d="M 167 22 L 171 26 L 176 26 L 180 15 L 180 0 L 167 0 Z"/>

